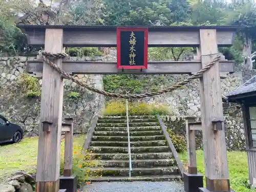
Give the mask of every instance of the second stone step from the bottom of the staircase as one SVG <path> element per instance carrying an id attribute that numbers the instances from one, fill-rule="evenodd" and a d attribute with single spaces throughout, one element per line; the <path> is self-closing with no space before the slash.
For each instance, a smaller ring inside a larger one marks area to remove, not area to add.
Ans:
<path id="1" fill-rule="evenodd" d="M 129 168 L 116 168 L 116 167 L 88 167 L 90 172 L 99 172 L 103 177 L 104 176 L 129 176 Z M 90 174 L 89 172 L 89 174 Z M 178 167 L 140 167 L 133 168 L 131 175 L 132 176 L 150 176 L 150 175 L 173 175 L 179 174 Z"/>

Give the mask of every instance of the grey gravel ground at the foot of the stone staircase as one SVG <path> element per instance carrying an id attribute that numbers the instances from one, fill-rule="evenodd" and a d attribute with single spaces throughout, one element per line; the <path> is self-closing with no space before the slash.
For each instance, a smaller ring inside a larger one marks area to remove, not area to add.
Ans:
<path id="1" fill-rule="evenodd" d="M 101 182 L 83 187 L 80 192 L 184 192 L 179 182 Z"/>

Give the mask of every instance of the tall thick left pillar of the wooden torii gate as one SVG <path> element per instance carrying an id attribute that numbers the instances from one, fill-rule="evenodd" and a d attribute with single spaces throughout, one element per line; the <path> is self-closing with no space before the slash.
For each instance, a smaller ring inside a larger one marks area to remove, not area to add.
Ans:
<path id="1" fill-rule="evenodd" d="M 45 51 L 62 51 L 62 29 L 46 29 Z M 62 59 L 53 59 L 60 68 Z M 36 170 L 36 192 L 57 192 L 59 190 L 61 118 L 63 99 L 63 78 L 44 63 L 42 72 L 40 122 L 48 121 L 45 130 L 39 125 L 38 155 Z M 44 132 L 45 131 L 45 132 Z"/>

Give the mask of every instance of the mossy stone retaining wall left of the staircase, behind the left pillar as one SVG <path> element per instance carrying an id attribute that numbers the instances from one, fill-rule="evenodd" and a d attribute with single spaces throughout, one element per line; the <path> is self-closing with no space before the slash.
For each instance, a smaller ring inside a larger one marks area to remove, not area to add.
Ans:
<path id="1" fill-rule="evenodd" d="M 26 60 L 27 57 L 0 58 L 0 114 L 35 135 L 38 133 L 40 99 L 28 98 L 21 92 L 13 93 L 17 80 L 25 71 Z M 103 89 L 102 75 L 76 75 L 76 78 Z M 71 92 L 78 93 L 78 97 L 69 96 Z M 81 88 L 71 80 L 64 80 L 63 117 L 74 117 L 75 132 L 85 132 L 103 106 L 102 95 Z"/>

